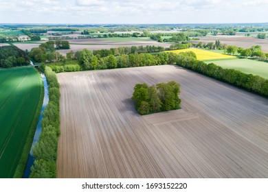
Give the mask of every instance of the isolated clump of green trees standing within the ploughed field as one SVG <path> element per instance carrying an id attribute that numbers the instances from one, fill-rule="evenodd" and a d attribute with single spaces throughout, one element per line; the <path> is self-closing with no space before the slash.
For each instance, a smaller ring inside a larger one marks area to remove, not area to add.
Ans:
<path id="1" fill-rule="evenodd" d="M 180 108 L 181 103 L 178 96 L 179 87 L 180 84 L 174 81 L 156 84 L 156 86 L 136 84 L 131 99 L 135 101 L 135 108 L 140 115 L 175 110 Z"/>

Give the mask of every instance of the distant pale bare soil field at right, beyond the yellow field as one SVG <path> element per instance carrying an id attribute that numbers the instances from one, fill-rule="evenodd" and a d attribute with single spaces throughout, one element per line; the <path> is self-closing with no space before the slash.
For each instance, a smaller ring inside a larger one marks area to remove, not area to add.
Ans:
<path id="1" fill-rule="evenodd" d="M 263 51 L 268 52 L 268 38 L 260 39 L 256 37 L 247 36 L 205 36 L 199 37 L 200 40 L 192 40 L 192 43 L 203 43 L 215 42 L 215 40 L 220 40 L 221 43 L 226 43 L 227 45 L 236 45 L 238 47 L 249 48 L 252 45 L 260 45 Z"/>

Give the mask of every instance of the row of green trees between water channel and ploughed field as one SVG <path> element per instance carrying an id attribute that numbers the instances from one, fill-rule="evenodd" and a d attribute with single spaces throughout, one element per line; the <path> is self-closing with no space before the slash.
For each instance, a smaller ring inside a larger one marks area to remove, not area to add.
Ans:
<path id="1" fill-rule="evenodd" d="M 60 135 L 60 91 L 56 74 L 45 67 L 45 75 L 49 85 L 49 103 L 41 121 L 42 132 L 38 143 L 32 151 L 34 165 L 30 178 L 56 178 L 56 160 L 58 152 L 58 136 Z"/>

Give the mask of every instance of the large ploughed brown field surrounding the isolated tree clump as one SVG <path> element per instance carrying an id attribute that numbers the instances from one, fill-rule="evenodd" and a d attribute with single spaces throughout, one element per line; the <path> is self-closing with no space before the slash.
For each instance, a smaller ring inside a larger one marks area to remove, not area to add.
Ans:
<path id="1" fill-rule="evenodd" d="M 267 178 L 268 99 L 175 66 L 60 73 L 58 178 Z M 141 116 L 137 83 L 181 84 Z"/>

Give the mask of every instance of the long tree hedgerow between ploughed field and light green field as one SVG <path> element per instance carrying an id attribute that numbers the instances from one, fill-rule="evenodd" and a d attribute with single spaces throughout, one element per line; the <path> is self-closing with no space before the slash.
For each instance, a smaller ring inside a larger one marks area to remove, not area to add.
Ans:
<path id="1" fill-rule="evenodd" d="M 213 77 L 216 80 L 227 82 L 259 95 L 268 96 L 268 80 L 258 75 L 246 74 L 234 69 L 223 69 L 216 64 L 206 64 L 192 56 L 183 56 L 182 54 L 177 54 L 173 62 L 186 69 Z"/>

